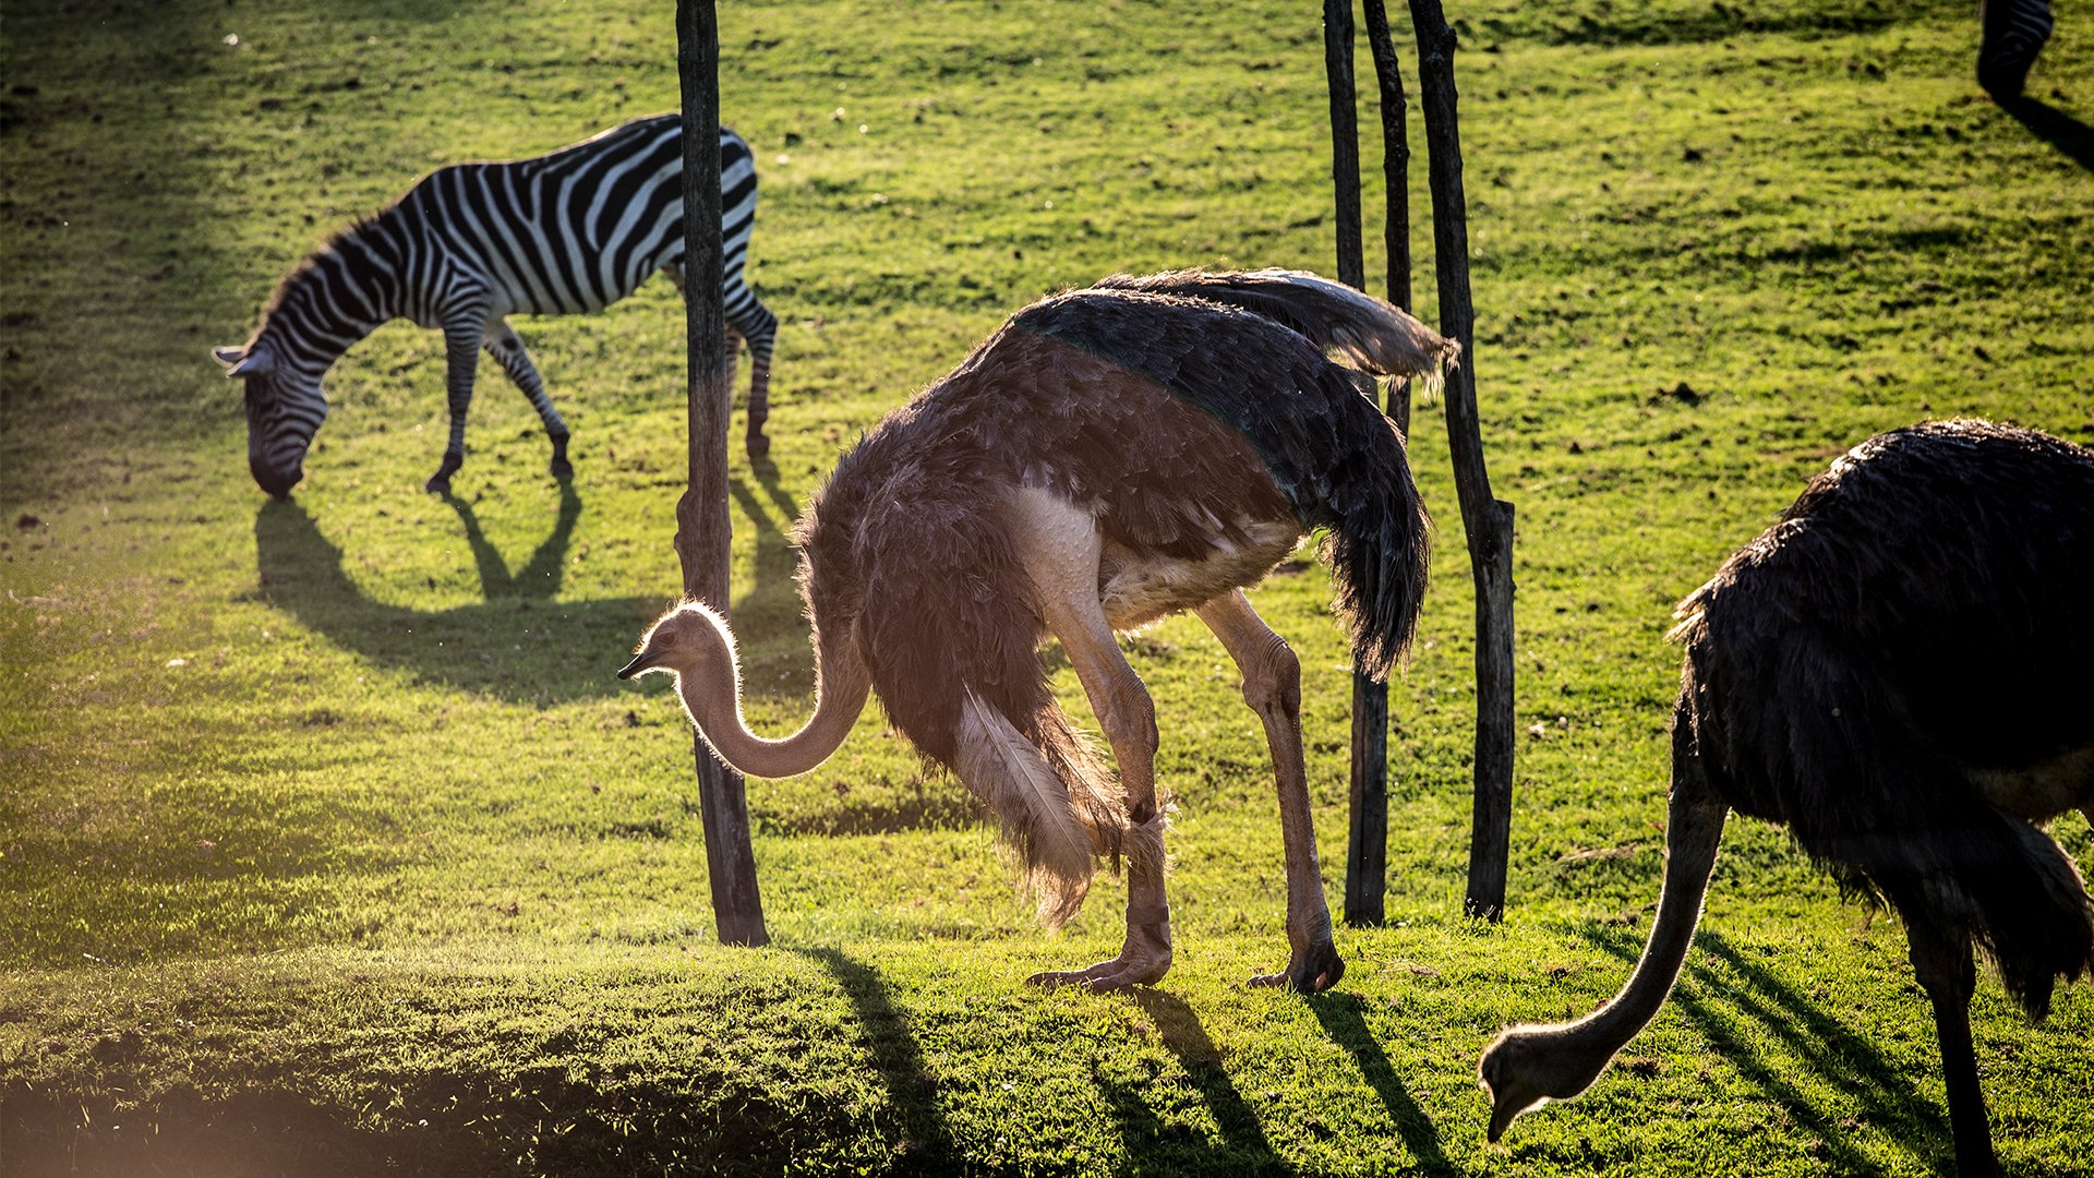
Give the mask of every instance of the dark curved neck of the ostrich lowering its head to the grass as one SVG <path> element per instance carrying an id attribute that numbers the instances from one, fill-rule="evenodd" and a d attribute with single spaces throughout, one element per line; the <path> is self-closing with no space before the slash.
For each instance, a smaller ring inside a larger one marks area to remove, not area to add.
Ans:
<path id="1" fill-rule="evenodd" d="M 1635 1038 L 1679 979 L 1694 926 L 1700 922 L 1709 874 L 1715 870 L 1715 849 L 1723 838 L 1728 807 L 1709 790 L 1700 765 L 1688 761 L 1673 773 L 1673 797 L 1665 820 L 1665 887 L 1658 893 L 1658 918 L 1650 924 L 1650 941 L 1635 962 L 1635 973 L 1602 1010 L 1560 1027 L 1527 1027 L 1522 1038 L 1545 1044 L 1554 1073 L 1564 1079 L 1583 1075 L 1573 1096 L 1614 1059 L 1623 1044 Z"/>

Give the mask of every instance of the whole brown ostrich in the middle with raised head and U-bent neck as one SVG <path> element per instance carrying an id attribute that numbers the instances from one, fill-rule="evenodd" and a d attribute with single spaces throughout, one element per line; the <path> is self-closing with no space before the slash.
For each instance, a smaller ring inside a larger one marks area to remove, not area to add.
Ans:
<path id="1" fill-rule="evenodd" d="M 1152 985 L 1171 968 L 1156 713 L 1116 633 L 1198 612 L 1244 675 L 1279 782 L 1288 872 L 1284 973 L 1319 991 L 1332 945 L 1302 769 L 1300 664 L 1252 612 L 1311 528 L 1361 664 L 1403 652 L 1426 572 L 1426 516 L 1403 438 L 1336 350 L 1382 375 L 1455 356 L 1401 310 L 1305 272 L 1171 272 L 1041 300 L 836 465 L 798 524 L 817 706 L 798 734 L 741 721 L 735 643 L 704 606 L 664 614 L 620 671 L 672 671 L 722 761 L 756 778 L 821 765 L 877 692 L 930 761 L 997 813 L 1060 924 L 1099 857 L 1127 857 L 1127 943 L 1041 985 Z M 1068 652 L 1118 784 L 1047 685 Z"/>

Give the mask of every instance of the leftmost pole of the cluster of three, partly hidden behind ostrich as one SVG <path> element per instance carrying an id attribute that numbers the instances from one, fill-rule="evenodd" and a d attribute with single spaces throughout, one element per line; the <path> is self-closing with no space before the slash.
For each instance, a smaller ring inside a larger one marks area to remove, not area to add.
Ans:
<path id="1" fill-rule="evenodd" d="M 1359 231 L 1359 115 L 1353 86 L 1353 0 L 1323 0 L 1330 82 L 1330 187 L 1338 218 L 1338 281 L 1367 287 Z M 1344 838 L 1344 922 L 1380 924 L 1388 876 L 1388 688 L 1353 669 L 1353 782 Z"/>

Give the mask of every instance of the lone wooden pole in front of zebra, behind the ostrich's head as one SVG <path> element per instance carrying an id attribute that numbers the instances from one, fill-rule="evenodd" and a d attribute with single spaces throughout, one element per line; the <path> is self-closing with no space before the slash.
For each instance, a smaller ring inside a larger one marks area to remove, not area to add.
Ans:
<path id="1" fill-rule="evenodd" d="M 676 69 L 683 78 L 683 293 L 689 342 L 691 484 L 676 501 L 683 593 L 727 612 L 727 415 L 735 363 L 720 306 L 720 29 L 712 0 L 676 0 Z M 712 920 L 727 945 L 762 945 L 750 807 L 741 773 L 695 734 L 697 805 L 706 824 Z"/>

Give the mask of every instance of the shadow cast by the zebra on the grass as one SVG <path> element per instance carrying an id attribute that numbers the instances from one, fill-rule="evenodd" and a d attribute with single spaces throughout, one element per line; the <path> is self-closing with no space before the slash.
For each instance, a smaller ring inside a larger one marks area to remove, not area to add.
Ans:
<path id="1" fill-rule="evenodd" d="M 509 702 L 555 704 L 626 692 L 616 677 L 662 602 L 603 597 L 555 602 L 582 501 L 561 484 L 559 518 L 521 572 L 511 574 L 473 509 L 448 499 L 465 524 L 482 602 L 415 610 L 373 602 L 343 572 L 343 553 L 295 501 L 255 514 L 260 599 L 289 612 L 335 646 L 417 679 Z"/>

